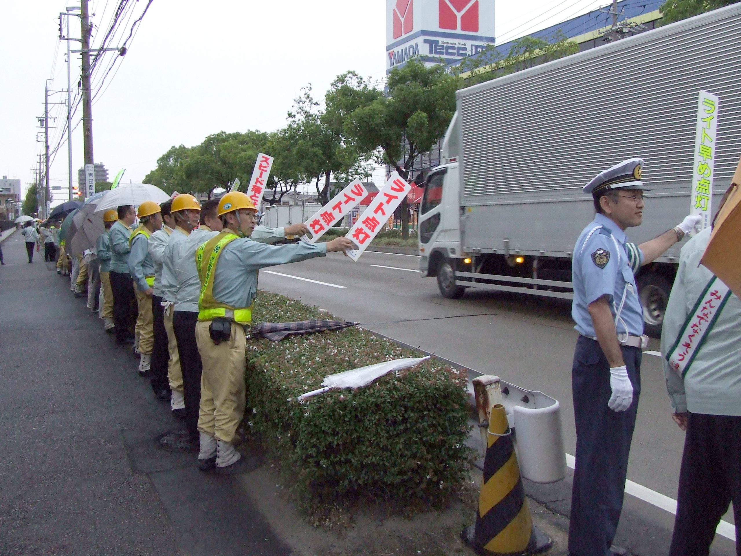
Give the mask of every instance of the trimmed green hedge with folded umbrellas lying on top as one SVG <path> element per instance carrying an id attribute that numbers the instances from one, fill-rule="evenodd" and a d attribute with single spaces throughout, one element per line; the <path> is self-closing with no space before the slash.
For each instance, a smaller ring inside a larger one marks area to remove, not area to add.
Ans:
<path id="1" fill-rule="evenodd" d="M 333 318 L 260 291 L 254 323 Z M 360 328 L 247 340 L 247 426 L 299 494 L 299 503 L 343 497 L 441 502 L 465 480 L 471 450 L 465 371 L 427 360 L 356 390 L 299 403 L 328 374 L 420 357 Z"/>

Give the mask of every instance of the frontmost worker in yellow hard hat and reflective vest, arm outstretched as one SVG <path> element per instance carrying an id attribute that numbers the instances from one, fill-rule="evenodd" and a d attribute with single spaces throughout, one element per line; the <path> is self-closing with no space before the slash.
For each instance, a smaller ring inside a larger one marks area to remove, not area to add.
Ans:
<path id="1" fill-rule="evenodd" d="M 323 257 L 352 247 L 345 237 L 328 243 L 265 245 L 250 239 L 256 208 L 239 191 L 219 201 L 224 229 L 196 251 L 201 279 L 196 343 L 201 355 L 199 468 L 219 474 L 248 471 L 255 465 L 234 448 L 245 413 L 245 326 L 252 322 L 259 268 Z"/>

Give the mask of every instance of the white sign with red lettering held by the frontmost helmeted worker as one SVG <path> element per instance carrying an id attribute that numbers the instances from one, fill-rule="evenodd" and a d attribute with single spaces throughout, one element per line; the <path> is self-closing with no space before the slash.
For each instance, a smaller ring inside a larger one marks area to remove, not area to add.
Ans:
<path id="1" fill-rule="evenodd" d="M 391 218 L 405 196 L 412 191 L 412 186 L 405 182 L 398 172 L 391 174 L 383 189 L 378 192 L 371 205 L 358 217 L 347 236 L 357 245 L 357 249 L 348 249 L 345 254 L 357 262 L 363 251 L 370 245 L 376 234 L 382 230 L 386 221 Z"/>

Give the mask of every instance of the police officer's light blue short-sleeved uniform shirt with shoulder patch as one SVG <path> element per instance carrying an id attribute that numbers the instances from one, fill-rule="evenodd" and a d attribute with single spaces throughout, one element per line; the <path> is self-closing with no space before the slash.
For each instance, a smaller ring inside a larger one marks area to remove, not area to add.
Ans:
<path id="1" fill-rule="evenodd" d="M 625 232 L 603 214 L 595 215 L 576 240 L 571 260 L 571 282 L 574 285 L 571 317 L 576 322 L 574 328 L 582 336 L 596 337 L 588 305 L 606 295 L 615 317 L 624 294 L 625 302 L 615 326 L 617 334 L 643 334 L 643 311 L 633 274 L 640 261 L 634 265 L 628 257 L 628 251 L 637 248 L 626 247 L 626 241 Z M 642 254 L 639 253 L 639 257 L 642 259 Z"/>

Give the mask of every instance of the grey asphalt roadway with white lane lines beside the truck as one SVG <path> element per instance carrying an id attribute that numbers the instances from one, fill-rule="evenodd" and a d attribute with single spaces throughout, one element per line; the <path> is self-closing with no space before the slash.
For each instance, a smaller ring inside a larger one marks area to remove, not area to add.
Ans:
<path id="1" fill-rule="evenodd" d="M 416 272 L 417 260 L 366 252 L 352 262 L 342 254 L 329 254 L 265 269 L 260 272 L 260 287 L 359 321 L 365 328 L 482 374 L 545 392 L 561 403 L 565 448 L 574 454 L 571 360 L 577 334 L 571 303 L 471 290 L 462 299 L 445 299 L 434 278 L 423 279 Z M 645 351 L 658 349 L 658 341 L 651 340 Z M 671 420 L 657 355 L 644 354 L 641 374 L 628 479 L 676 500 L 684 433 Z M 671 532 L 674 517 L 668 512 L 633 497 L 626 497 L 626 507 L 637 516 L 636 523 L 645 518 L 663 537 Z M 733 523 L 731 512 L 725 520 Z M 735 553 L 732 543 L 719 537 L 714 549 L 718 555 Z"/>

